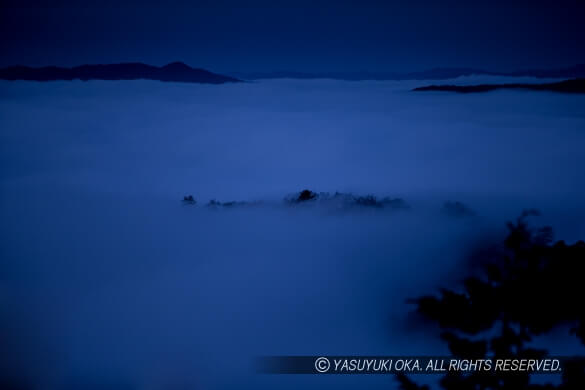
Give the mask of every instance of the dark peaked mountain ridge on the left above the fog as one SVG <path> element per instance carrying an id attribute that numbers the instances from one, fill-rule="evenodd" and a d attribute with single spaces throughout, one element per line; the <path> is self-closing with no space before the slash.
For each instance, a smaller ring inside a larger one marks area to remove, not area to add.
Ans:
<path id="1" fill-rule="evenodd" d="M 182 62 L 172 62 L 157 67 L 140 62 L 120 64 L 81 65 L 73 68 L 46 66 L 9 66 L 0 68 L 2 80 L 158 80 L 182 83 L 223 84 L 239 82 L 234 77 L 209 72 L 205 69 L 191 68 Z"/>

